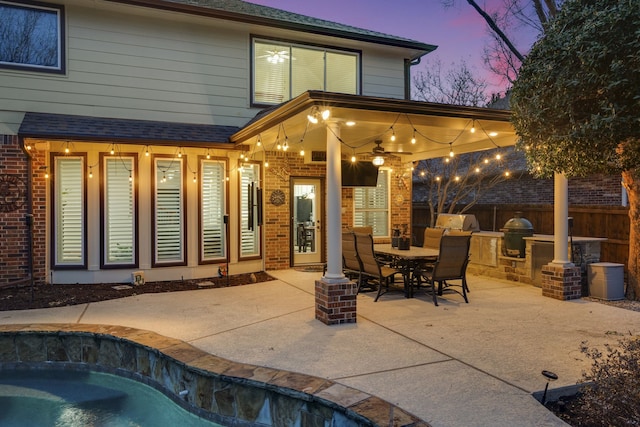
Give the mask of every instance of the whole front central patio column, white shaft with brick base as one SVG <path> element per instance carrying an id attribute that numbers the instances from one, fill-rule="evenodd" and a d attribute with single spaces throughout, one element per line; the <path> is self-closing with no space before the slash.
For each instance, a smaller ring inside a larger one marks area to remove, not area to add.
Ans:
<path id="1" fill-rule="evenodd" d="M 316 319 L 327 325 L 356 323 L 358 287 L 342 273 L 342 158 L 340 124 L 327 125 L 327 271 L 316 280 Z"/>

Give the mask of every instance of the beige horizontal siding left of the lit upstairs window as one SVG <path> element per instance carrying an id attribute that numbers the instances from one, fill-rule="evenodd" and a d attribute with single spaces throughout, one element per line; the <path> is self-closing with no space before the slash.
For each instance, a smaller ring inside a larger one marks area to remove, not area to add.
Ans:
<path id="1" fill-rule="evenodd" d="M 67 75 L 0 71 L 0 110 L 221 125 L 255 114 L 248 33 L 156 12 L 66 11 Z"/>

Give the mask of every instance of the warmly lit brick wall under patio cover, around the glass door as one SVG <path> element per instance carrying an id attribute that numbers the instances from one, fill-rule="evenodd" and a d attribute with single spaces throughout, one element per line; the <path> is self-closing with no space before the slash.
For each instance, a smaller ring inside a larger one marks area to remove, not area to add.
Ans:
<path id="1" fill-rule="evenodd" d="M 264 237 L 265 237 L 265 268 L 275 270 L 290 267 L 291 246 L 291 206 L 290 183 L 291 177 L 325 178 L 326 165 L 324 163 L 305 164 L 304 159 L 296 152 L 268 151 L 265 160 L 269 167 L 265 168 L 264 176 Z M 393 168 L 391 172 L 391 224 L 411 224 L 411 175 L 401 173 L 399 160 L 389 157 L 385 167 Z M 403 175 L 405 175 L 403 177 Z M 325 191 L 326 191 L 326 182 Z M 276 206 L 269 201 L 274 190 L 285 193 L 285 203 Z M 402 195 L 404 202 L 396 200 Z M 325 200 L 325 194 L 322 195 Z M 325 221 L 326 222 L 326 221 Z M 342 226 L 353 226 L 353 188 L 342 189 Z M 325 248 L 325 254 L 328 248 Z M 325 258 L 325 257 L 323 257 Z"/>

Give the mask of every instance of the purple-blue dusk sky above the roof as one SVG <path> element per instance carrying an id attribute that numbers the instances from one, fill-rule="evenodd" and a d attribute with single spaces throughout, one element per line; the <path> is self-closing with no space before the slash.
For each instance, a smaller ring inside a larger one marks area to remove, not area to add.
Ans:
<path id="1" fill-rule="evenodd" d="M 443 67 L 464 59 L 488 82 L 490 76 L 482 63 L 482 52 L 489 42 L 487 25 L 482 17 L 464 0 L 455 7 L 445 8 L 440 0 L 248 0 L 251 3 L 276 7 L 315 18 L 407 37 L 438 48 L 423 57 L 422 64 L 439 58 Z M 480 0 L 478 4 L 493 10 L 502 0 Z M 486 10 L 486 9 L 485 9 Z M 533 30 L 522 32 L 516 45 L 527 52 L 535 39 Z M 489 93 L 503 92 L 495 84 Z"/>

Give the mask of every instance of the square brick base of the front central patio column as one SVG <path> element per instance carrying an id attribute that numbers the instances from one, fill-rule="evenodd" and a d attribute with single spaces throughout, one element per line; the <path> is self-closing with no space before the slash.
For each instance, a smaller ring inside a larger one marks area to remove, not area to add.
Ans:
<path id="1" fill-rule="evenodd" d="M 316 319 L 327 325 L 356 323 L 357 291 L 355 282 L 316 280 Z"/>

